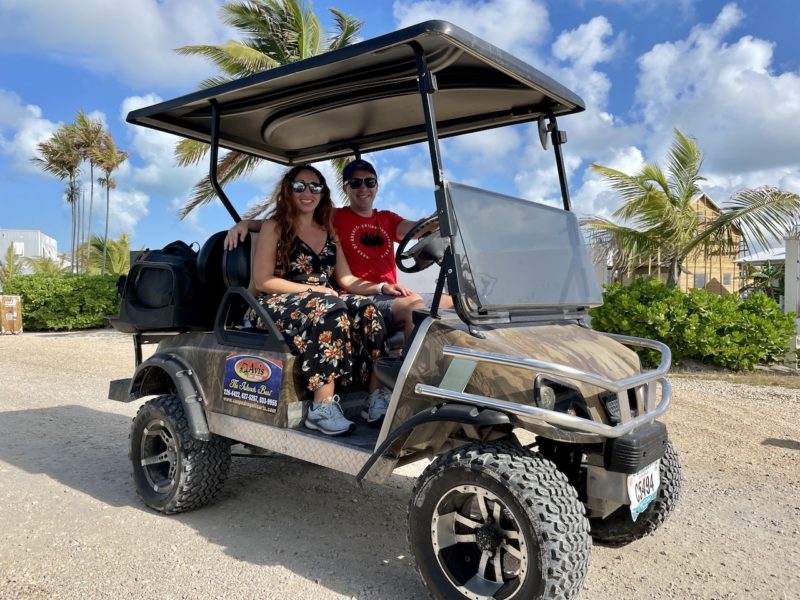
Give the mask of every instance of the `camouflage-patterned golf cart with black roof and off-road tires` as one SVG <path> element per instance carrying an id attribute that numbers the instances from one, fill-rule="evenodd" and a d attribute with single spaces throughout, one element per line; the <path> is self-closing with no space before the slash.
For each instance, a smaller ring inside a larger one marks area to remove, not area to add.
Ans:
<path id="1" fill-rule="evenodd" d="M 435 211 L 397 262 L 439 268 L 430 311 L 376 367 L 392 390 L 382 425 L 332 438 L 302 426 L 300 365 L 256 301 L 252 239 L 225 251 L 221 231 L 196 255 L 171 244 L 135 263 L 113 324 L 133 334 L 137 366 L 109 396 L 155 396 L 130 435 L 145 504 L 204 505 L 232 452 L 377 483 L 432 459 L 413 489 L 408 539 L 436 598 L 574 598 L 592 540 L 654 532 L 681 489 L 657 420 L 670 404 L 670 351 L 587 325 L 602 296 L 570 210 L 557 123 L 582 110 L 543 73 L 430 21 L 131 112 L 131 123 L 210 144 L 210 181 L 234 221 L 220 147 L 296 165 L 426 142 Z M 445 178 L 440 138 L 526 122 L 552 145 L 563 208 Z M 439 309 L 445 285 L 454 310 Z M 247 326 L 251 310 L 266 329 Z M 658 368 L 643 370 L 634 347 L 660 353 Z"/>

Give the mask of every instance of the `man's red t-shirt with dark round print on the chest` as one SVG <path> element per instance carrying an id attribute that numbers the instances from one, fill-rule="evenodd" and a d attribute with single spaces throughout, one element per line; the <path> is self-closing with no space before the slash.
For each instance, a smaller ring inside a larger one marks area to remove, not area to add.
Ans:
<path id="1" fill-rule="evenodd" d="M 333 228 L 342 244 L 350 271 L 356 277 L 375 283 L 397 283 L 394 242 L 403 217 L 390 210 L 373 210 L 361 217 L 349 206 L 333 215 Z"/>

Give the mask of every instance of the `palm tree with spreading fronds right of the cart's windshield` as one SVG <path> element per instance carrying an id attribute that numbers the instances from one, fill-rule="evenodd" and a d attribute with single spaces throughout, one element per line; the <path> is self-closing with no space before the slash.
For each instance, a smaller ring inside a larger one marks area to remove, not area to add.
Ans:
<path id="1" fill-rule="evenodd" d="M 723 203 L 719 216 L 702 222 L 694 200 L 703 181 L 703 157 L 697 141 L 675 130 L 666 172 L 647 164 L 635 175 L 601 165 L 600 173 L 617 192 L 622 205 L 617 221 L 588 217 L 593 243 L 614 257 L 614 266 L 631 270 L 656 256 L 669 268 L 667 285 L 677 286 L 683 263 L 695 251 L 730 252 L 738 248 L 738 236 L 748 245 L 766 247 L 769 238 L 790 229 L 800 210 L 800 196 L 772 187 L 743 189 Z"/>

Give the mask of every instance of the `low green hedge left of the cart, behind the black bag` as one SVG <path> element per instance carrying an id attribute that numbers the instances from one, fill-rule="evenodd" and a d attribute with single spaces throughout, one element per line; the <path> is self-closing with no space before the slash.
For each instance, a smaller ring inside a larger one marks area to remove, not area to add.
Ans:
<path id="1" fill-rule="evenodd" d="M 28 331 L 106 327 L 119 313 L 115 275 L 15 275 L 3 293 L 22 297 Z"/>

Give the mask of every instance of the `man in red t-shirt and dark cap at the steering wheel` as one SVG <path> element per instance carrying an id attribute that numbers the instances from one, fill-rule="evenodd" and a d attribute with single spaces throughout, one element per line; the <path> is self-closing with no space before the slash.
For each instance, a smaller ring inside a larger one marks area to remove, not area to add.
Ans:
<path id="1" fill-rule="evenodd" d="M 426 309 L 419 294 L 397 282 L 394 261 L 394 242 L 399 242 L 414 226 L 414 221 L 403 219 L 388 210 L 373 208 L 378 194 L 378 174 L 366 160 L 356 159 L 342 171 L 343 191 L 349 206 L 334 213 L 333 226 L 353 275 L 381 283 L 381 293 L 374 297 L 381 311 L 386 329 L 391 335 L 403 330 L 408 339 L 414 329 L 412 313 Z M 241 221 L 228 232 L 225 248 L 236 247 L 248 231 L 258 231 L 261 221 Z M 442 296 L 442 308 L 452 307 L 449 296 Z"/>

